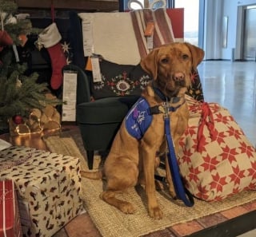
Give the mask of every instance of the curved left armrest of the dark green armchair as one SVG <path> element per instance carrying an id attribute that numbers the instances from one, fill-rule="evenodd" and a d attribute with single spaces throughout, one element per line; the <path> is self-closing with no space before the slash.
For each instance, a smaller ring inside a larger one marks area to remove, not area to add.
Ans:
<path id="1" fill-rule="evenodd" d="M 74 71 L 78 73 L 77 81 L 77 105 L 83 102 L 90 101 L 90 81 L 84 69 L 79 68 L 77 65 L 65 65 L 62 71 Z"/>

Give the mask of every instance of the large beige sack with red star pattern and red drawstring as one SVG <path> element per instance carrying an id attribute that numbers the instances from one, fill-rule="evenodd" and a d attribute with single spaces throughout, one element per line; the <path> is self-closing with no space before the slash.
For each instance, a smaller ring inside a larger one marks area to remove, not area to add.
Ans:
<path id="1" fill-rule="evenodd" d="M 189 126 L 178 164 L 186 188 L 199 199 L 221 200 L 256 188 L 256 152 L 227 109 L 187 97 Z"/>

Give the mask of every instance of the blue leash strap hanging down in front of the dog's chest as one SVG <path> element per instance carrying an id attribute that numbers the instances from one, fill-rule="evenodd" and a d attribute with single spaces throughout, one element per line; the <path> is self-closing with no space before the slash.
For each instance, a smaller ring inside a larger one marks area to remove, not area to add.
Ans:
<path id="1" fill-rule="evenodd" d="M 170 172 L 174 183 L 174 190 L 178 199 L 182 199 L 183 203 L 188 207 L 194 206 L 194 198 L 191 193 L 182 184 L 182 177 L 179 173 L 178 161 L 176 159 L 173 140 L 170 135 L 170 118 L 165 117 L 165 132 L 166 140 L 169 148 L 168 162 L 170 166 Z"/>

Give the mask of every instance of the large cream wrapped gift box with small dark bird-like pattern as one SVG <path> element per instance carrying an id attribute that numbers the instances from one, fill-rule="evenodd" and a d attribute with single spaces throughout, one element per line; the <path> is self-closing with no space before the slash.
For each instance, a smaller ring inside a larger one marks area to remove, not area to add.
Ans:
<path id="1" fill-rule="evenodd" d="M 0 163 L 6 160 L 0 180 L 16 184 L 23 236 L 52 236 L 81 213 L 77 157 L 12 146 L 0 151 Z"/>

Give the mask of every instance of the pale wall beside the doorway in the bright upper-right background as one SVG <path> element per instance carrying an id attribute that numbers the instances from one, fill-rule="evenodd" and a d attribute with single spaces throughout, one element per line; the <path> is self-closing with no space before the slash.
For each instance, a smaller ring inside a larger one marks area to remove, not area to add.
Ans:
<path id="1" fill-rule="evenodd" d="M 204 46 L 206 60 L 241 59 L 242 6 L 256 4 L 256 0 L 206 0 Z M 222 19 L 228 17 L 227 46 L 222 48 Z"/>

